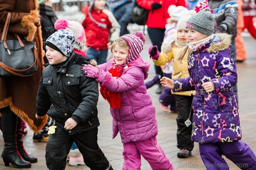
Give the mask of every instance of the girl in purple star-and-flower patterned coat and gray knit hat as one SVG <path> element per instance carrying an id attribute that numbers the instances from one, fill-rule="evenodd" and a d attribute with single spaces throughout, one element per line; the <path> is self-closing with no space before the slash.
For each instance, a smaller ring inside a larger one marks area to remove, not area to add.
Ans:
<path id="1" fill-rule="evenodd" d="M 255 170 L 256 156 L 240 141 L 238 107 L 232 87 L 237 72 L 230 56 L 231 35 L 213 34 L 213 16 L 209 9 L 196 13 L 186 22 L 190 43 L 180 51 L 182 60 L 189 49 L 189 77 L 161 79 L 162 86 L 177 91 L 195 90 L 193 99 L 192 141 L 199 142 L 200 156 L 207 170 L 228 170 L 226 156 L 239 168 Z"/>

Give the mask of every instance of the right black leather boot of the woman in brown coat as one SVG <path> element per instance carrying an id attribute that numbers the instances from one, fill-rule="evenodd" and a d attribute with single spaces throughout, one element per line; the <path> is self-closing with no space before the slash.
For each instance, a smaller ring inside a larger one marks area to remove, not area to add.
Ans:
<path id="1" fill-rule="evenodd" d="M 18 118 L 18 123 L 17 123 L 17 149 L 18 149 L 18 152 L 20 154 L 20 156 L 25 160 L 25 161 L 28 161 L 30 163 L 34 163 L 34 162 L 37 162 L 37 158 L 36 157 L 32 157 L 30 156 L 24 146 L 23 146 L 23 140 L 22 140 L 22 129 L 21 129 L 21 119 Z"/>

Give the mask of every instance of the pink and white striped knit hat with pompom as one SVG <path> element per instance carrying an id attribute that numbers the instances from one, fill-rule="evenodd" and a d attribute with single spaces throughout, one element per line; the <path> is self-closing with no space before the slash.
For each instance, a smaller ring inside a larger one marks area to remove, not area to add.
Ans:
<path id="1" fill-rule="evenodd" d="M 129 46 L 128 57 L 125 64 L 136 60 L 139 57 L 140 52 L 143 50 L 146 38 L 142 32 L 136 32 L 135 34 L 125 34 L 120 37 L 125 40 Z"/>

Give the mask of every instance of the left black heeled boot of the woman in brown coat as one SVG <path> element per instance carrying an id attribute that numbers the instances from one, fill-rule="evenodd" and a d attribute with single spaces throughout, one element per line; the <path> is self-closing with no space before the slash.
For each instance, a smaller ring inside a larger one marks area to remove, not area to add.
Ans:
<path id="1" fill-rule="evenodd" d="M 4 166 L 9 163 L 14 168 L 29 168 L 31 163 L 21 158 L 16 146 L 16 129 L 18 117 L 9 107 L 1 109 L 1 130 L 3 133 L 4 147 L 2 158 Z"/>

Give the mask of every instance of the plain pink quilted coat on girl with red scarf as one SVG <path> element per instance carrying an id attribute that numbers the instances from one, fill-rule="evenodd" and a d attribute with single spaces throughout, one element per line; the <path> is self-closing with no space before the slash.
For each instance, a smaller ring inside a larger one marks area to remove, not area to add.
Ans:
<path id="1" fill-rule="evenodd" d="M 139 56 L 124 68 L 121 77 L 107 73 L 100 86 L 113 92 L 121 92 L 121 109 L 110 108 L 113 117 L 113 138 L 120 132 L 122 143 L 146 140 L 157 135 L 155 107 L 147 93 L 144 80 L 148 76 L 149 62 Z M 113 67 L 113 58 L 98 66 L 107 72 Z"/>

